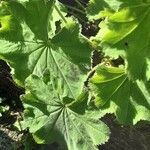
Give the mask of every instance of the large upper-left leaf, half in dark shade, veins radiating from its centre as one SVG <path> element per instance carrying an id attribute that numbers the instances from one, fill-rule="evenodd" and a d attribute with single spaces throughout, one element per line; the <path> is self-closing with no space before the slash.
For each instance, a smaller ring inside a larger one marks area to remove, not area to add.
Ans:
<path id="1" fill-rule="evenodd" d="M 57 82 L 55 86 L 63 86 L 60 89 L 64 88 L 65 96 L 76 97 L 81 92 L 86 73 L 90 69 L 91 55 L 87 40 L 80 35 L 78 22 L 68 18 L 67 23 L 62 24 L 55 34 L 55 17 L 58 14 L 56 15 L 54 0 L 3 3 L 8 6 L 5 10 L 9 10 L 9 15 L 21 26 L 18 31 L 7 20 L 16 34 L 12 35 L 13 40 L 7 34 L 3 34 L 3 37 L 0 35 L 0 55 L 14 68 L 14 78 L 24 84 L 30 74 L 39 77 L 46 74 L 45 80 L 53 80 Z M 7 29 L 4 31 L 9 32 Z M 13 30 L 9 33 L 11 31 Z M 17 36 L 18 32 L 22 35 L 21 38 Z"/>

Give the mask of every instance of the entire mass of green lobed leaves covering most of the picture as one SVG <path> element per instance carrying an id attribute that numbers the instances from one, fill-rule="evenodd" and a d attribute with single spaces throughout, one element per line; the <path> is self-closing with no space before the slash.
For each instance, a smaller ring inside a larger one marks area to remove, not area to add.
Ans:
<path id="1" fill-rule="evenodd" d="M 90 0 L 87 17 L 102 20 L 90 40 L 64 10 L 57 0 L 2 0 L 0 57 L 26 90 L 21 125 L 37 143 L 96 150 L 109 138 L 106 113 L 121 124 L 150 121 L 150 1 Z M 125 65 L 91 70 L 93 45 Z"/>

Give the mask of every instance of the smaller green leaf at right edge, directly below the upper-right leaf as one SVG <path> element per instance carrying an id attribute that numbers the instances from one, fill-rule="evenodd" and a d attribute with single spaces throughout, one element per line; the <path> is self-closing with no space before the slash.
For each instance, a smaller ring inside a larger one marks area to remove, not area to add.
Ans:
<path id="1" fill-rule="evenodd" d="M 127 77 L 124 69 L 98 66 L 90 80 L 95 104 L 106 113 L 115 113 L 123 124 L 150 121 L 150 83 Z"/>

